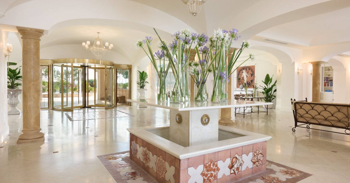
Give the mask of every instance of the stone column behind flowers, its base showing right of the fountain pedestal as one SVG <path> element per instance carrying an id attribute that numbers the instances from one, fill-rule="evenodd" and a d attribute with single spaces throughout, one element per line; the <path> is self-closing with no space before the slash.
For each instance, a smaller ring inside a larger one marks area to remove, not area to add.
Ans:
<path id="1" fill-rule="evenodd" d="M 235 48 L 231 48 L 229 50 L 228 61 L 230 61 L 231 55 L 232 55 L 234 49 Z M 230 82 L 228 84 L 228 95 L 227 95 L 228 100 L 232 99 L 232 97 L 231 97 L 232 78 L 233 78 L 233 76 L 231 76 Z M 225 125 L 225 126 L 229 125 L 229 124 L 233 124 L 233 120 L 231 120 L 231 108 L 221 108 L 221 116 L 220 116 L 219 124 Z"/>

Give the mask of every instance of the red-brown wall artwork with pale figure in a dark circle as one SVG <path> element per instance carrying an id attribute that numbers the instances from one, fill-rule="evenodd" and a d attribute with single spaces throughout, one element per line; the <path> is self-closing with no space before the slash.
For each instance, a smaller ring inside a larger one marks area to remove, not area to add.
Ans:
<path id="1" fill-rule="evenodd" d="M 242 66 L 236 69 L 236 88 L 243 83 L 248 85 L 248 88 L 253 88 L 255 83 L 255 65 Z"/>

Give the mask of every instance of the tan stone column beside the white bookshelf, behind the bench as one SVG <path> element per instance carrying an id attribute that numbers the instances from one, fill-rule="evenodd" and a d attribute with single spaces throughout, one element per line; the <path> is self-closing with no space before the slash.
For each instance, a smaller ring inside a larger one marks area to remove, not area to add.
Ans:
<path id="1" fill-rule="evenodd" d="M 321 100 L 321 65 L 322 61 L 310 62 L 312 64 L 312 101 Z"/>

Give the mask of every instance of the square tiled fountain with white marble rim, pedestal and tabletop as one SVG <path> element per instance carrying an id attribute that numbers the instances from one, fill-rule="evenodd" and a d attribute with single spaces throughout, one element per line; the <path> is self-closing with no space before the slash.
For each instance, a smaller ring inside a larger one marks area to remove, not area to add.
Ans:
<path id="1" fill-rule="evenodd" d="M 235 182 L 266 170 L 271 136 L 221 126 L 218 115 L 221 108 L 272 103 L 127 101 L 170 109 L 170 125 L 127 129 L 131 160 L 157 182 Z"/>

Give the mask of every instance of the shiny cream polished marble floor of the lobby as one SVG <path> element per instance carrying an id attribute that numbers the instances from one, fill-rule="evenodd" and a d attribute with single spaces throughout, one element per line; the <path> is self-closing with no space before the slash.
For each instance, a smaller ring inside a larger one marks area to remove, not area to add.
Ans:
<path id="1" fill-rule="evenodd" d="M 75 112 L 104 110 L 87 108 Z M 16 144 L 22 116 L 9 115 L 8 143 L 0 145 L 0 182 L 115 182 L 97 156 L 129 150 L 126 128 L 169 124 L 167 109 L 118 110 L 134 116 L 69 121 L 64 114 L 67 112 L 41 110 L 45 142 L 25 144 Z M 292 111 L 273 110 L 268 115 L 233 118 L 236 124 L 232 127 L 272 136 L 267 142 L 267 159 L 312 174 L 301 182 L 349 182 L 349 135 L 308 132 L 303 128 L 292 133 Z"/>

